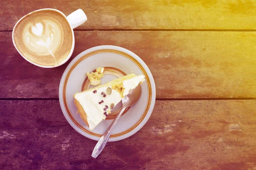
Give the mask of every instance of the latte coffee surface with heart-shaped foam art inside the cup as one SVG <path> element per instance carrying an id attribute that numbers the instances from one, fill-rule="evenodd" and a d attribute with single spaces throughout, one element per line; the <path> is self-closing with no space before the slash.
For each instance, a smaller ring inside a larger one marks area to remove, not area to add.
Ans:
<path id="1" fill-rule="evenodd" d="M 24 57 L 39 65 L 57 65 L 70 53 L 72 30 L 67 19 L 54 10 L 35 11 L 14 30 L 15 45 Z"/>

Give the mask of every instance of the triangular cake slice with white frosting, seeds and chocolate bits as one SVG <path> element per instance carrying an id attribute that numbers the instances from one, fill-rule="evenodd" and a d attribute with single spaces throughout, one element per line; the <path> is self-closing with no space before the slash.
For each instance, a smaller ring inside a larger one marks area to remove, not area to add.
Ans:
<path id="1" fill-rule="evenodd" d="M 131 89 L 136 88 L 144 80 L 143 75 L 128 74 L 104 85 L 76 93 L 74 98 L 78 113 L 90 130 L 93 130 Z"/>

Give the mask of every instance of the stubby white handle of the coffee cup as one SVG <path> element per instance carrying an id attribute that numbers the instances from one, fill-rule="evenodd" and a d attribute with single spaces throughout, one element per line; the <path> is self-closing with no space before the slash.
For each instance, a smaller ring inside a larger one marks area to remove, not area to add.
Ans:
<path id="1" fill-rule="evenodd" d="M 78 9 L 67 16 L 67 20 L 70 23 L 72 29 L 80 26 L 81 24 L 87 21 L 87 17 L 84 14 L 84 11 Z"/>

